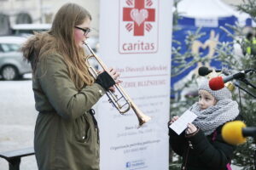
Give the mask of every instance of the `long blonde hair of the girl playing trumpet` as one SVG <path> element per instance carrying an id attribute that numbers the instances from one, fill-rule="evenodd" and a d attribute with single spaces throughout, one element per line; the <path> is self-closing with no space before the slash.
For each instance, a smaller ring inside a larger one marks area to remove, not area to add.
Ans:
<path id="1" fill-rule="evenodd" d="M 84 64 L 84 49 L 75 45 L 73 35 L 74 26 L 80 25 L 88 19 L 91 20 L 91 15 L 85 8 L 75 3 L 66 3 L 55 14 L 49 31 L 49 34 L 55 37 L 56 52 L 63 56 L 70 77 L 78 89 L 94 82 Z"/>

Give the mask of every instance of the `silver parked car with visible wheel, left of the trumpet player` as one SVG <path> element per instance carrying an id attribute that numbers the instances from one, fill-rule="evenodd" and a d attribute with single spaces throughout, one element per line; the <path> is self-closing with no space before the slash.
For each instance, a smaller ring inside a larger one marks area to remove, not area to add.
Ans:
<path id="1" fill-rule="evenodd" d="M 20 46 L 26 37 L 0 37 L 0 75 L 3 80 L 15 80 L 32 68 L 22 57 Z"/>

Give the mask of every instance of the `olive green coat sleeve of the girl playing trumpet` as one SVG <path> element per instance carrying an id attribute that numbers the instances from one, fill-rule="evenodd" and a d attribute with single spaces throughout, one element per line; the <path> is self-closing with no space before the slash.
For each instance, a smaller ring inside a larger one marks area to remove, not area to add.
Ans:
<path id="1" fill-rule="evenodd" d="M 80 91 L 75 88 L 67 65 L 58 54 L 49 54 L 40 59 L 36 78 L 49 104 L 57 114 L 67 119 L 76 119 L 89 111 L 106 92 L 97 83 Z"/>

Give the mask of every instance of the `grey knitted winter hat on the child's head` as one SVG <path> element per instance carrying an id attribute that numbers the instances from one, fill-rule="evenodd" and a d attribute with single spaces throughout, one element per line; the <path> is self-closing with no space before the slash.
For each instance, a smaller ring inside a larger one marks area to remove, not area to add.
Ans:
<path id="1" fill-rule="evenodd" d="M 208 79 L 204 79 L 201 81 L 201 83 L 199 84 L 198 90 L 206 90 L 207 92 L 212 94 L 212 96 L 214 96 L 214 98 L 217 99 L 218 101 L 222 100 L 222 99 L 231 99 L 232 98 L 232 94 L 231 94 L 230 90 L 226 87 L 219 89 L 219 90 L 212 90 L 209 87 Z"/>

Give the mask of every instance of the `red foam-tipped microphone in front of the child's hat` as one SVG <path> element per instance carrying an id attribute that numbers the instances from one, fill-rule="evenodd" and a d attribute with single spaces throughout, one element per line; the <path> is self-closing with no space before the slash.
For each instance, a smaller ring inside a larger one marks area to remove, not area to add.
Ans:
<path id="1" fill-rule="evenodd" d="M 249 71 L 253 71 L 252 69 L 247 69 L 245 71 L 240 71 L 237 72 L 233 75 L 230 75 L 228 77 L 214 77 L 209 81 L 209 87 L 212 90 L 219 90 L 221 88 L 224 88 L 224 83 L 230 82 L 233 79 L 239 79 L 239 78 L 244 78 L 245 74 Z"/>

